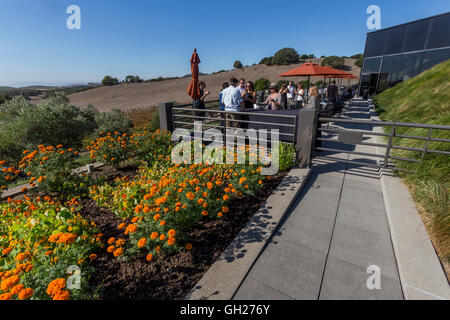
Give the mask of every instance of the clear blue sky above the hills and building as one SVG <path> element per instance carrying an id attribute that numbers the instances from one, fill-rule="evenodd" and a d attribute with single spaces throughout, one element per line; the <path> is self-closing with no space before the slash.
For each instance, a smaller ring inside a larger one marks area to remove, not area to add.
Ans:
<path id="1" fill-rule="evenodd" d="M 81 30 L 66 27 L 72 4 Z M 181 76 L 194 47 L 205 73 L 284 47 L 350 56 L 364 49 L 373 4 L 382 28 L 450 11 L 448 0 L 0 0 L 0 85 Z"/>

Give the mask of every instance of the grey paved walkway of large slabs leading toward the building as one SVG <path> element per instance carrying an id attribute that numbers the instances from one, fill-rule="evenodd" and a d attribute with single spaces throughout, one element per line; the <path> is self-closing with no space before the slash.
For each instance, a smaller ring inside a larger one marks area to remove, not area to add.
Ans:
<path id="1" fill-rule="evenodd" d="M 352 105 L 343 115 L 369 119 L 370 111 L 364 104 Z M 345 128 L 371 130 L 356 125 Z M 333 142 L 324 146 L 343 149 Z M 357 146 L 356 151 L 375 152 L 368 146 Z M 378 170 L 326 156 L 365 163 L 377 160 L 322 152 L 306 187 L 250 269 L 235 300 L 403 299 Z M 367 268 L 372 265 L 381 271 L 380 289 L 367 288 L 372 275 Z"/>

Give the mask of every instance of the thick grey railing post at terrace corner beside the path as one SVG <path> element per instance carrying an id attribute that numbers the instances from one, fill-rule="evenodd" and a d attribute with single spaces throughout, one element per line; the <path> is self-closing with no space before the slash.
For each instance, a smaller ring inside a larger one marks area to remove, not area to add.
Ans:
<path id="1" fill-rule="evenodd" d="M 316 138 L 317 110 L 301 109 L 298 114 L 295 151 L 300 167 L 310 167 Z"/>

